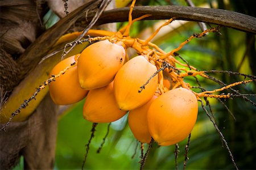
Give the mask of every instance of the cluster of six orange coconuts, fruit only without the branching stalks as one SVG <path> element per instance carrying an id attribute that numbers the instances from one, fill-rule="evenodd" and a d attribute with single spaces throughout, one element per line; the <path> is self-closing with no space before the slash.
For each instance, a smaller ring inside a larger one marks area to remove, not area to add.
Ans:
<path id="1" fill-rule="evenodd" d="M 67 105 L 86 97 L 83 116 L 94 123 L 129 114 L 130 129 L 142 143 L 151 138 L 162 146 L 182 141 L 195 125 L 197 97 L 187 88 L 166 90 L 170 82 L 159 82 L 163 77 L 156 59 L 143 52 L 127 60 L 127 46 L 132 45 L 113 38 L 97 41 L 59 62 L 51 76 L 72 68 L 49 84 L 52 100 Z M 166 92 L 161 93 L 159 84 Z"/>

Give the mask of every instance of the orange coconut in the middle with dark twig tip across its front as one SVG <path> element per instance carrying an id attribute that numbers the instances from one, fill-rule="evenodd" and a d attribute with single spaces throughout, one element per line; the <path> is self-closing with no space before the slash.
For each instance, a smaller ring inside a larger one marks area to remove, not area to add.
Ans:
<path id="1" fill-rule="evenodd" d="M 141 92 L 139 90 L 156 71 L 156 66 L 143 56 L 134 57 L 123 65 L 114 79 L 114 94 L 120 109 L 133 110 L 152 98 L 158 86 L 158 75 Z"/>

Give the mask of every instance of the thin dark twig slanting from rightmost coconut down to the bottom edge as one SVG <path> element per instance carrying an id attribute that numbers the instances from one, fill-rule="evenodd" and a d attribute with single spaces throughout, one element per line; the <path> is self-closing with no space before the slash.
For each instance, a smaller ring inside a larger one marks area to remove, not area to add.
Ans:
<path id="1" fill-rule="evenodd" d="M 202 106 L 204 112 L 207 114 L 207 116 L 209 117 L 210 121 L 213 123 L 214 128 L 217 130 L 218 134 L 220 135 L 221 141 L 224 142 L 224 145 L 225 145 L 226 149 L 227 149 L 228 152 L 229 152 L 229 156 L 230 156 L 230 158 L 231 158 L 231 160 L 232 160 L 232 163 L 234 164 L 234 167 L 238 170 L 237 164 L 236 164 L 236 162 L 234 161 L 234 156 L 233 156 L 233 154 L 232 154 L 232 152 L 230 151 L 230 148 L 229 148 L 229 146 L 228 146 L 228 142 L 226 142 L 226 139 L 225 139 L 224 135 L 221 133 L 220 129 L 218 129 L 218 125 L 216 124 L 216 122 L 214 121 L 214 119 L 212 118 L 212 116 L 210 116 L 210 114 L 208 113 L 207 109 L 205 108 L 205 106 L 204 106 L 204 104 L 203 104 L 203 101 L 200 100 L 200 102 L 201 102 L 201 106 Z"/>

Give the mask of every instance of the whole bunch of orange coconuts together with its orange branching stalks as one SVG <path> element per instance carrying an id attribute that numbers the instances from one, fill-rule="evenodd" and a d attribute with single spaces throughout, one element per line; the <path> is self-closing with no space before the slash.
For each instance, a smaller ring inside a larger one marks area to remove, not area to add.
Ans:
<path id="1" fill-rule="evenodd" d="M 219 32 L 219 27 L 194 34 L 166 53 L 150 41 L 175 17 L 162 24 L 148 39 L 133 38 L 129 35 L 131 25 L 150 16 L 132 19 L 134 4 L 135 0 L 131 3 L 129 22 L 125 27 L 106 36 L 89 37 L 88 41 L 93 40 L 93 43 L 81 54 L 56 65 L 51 73 L 53 82 L 49 85 L 49 92 L 53 101 L 60 105 L 73 104 L 86 97 L 83 108 L 85 120 L 113 122 L 129 114 L 129 126 L 138 141 L 150 143 L 154 139 L 160 146 L 174 145 L 183 141 L 195 126 L 197 100 L 201 101 L 201 97 L 230 98 L 230 94 L 214 93 L 253 82 L 255 76 L 245 75 L 251 79 L 212 91 L 192 91 L 192 86 L 184 82 L 185 77 L 213 78 L 205 74 L 209 73 L 207 71 L 179 62 L 175 56 L 192 39 L 204 37 L 209 32 Z M 97 35 L 97 32 L 94 33 Z M 138 55 L 129 57 L 128 48 L 136 50 Z M 61 73 L 63 75 L 60 76 Z M 58 77 L 56 81 L 55 74 Z"/>

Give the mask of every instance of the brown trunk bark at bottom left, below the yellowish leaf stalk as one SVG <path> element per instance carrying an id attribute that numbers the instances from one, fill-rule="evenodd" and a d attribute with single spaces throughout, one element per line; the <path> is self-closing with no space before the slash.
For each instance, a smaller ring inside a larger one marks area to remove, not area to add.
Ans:
<path id="1" fill-rule="evenodd" d="M 1 169 L 11 169 L 21 155 L 24 169 L 53 169 L 57 105 L 47 95 L 28 120 L 12 122 L 0 136 Z"/>

